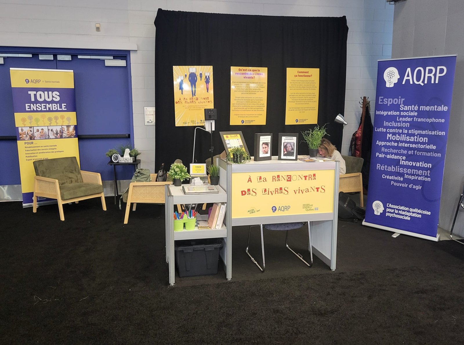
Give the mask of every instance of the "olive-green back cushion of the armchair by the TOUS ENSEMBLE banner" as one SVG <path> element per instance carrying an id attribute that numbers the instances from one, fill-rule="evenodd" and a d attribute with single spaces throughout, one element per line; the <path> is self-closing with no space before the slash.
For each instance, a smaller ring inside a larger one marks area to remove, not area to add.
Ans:
<path id="1" fill-rule="evenodd" d="M 49 160 L 35 160 L 32 163 L 34 165 L 35 174 L 37 176 L 47 177 L 49 179 L 57 179 L 60 186 L 84 182 L 82 180 L 81 170 L 79 168 L 79 165 L 77 164 L 76 157 L 52 158 Z"/>

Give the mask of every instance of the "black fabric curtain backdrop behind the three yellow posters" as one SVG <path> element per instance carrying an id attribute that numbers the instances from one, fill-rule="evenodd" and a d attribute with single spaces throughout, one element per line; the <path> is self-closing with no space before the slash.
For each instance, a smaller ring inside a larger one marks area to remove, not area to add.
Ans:
<path id="1" fill-rule="evenodd" d="M 277 155 L 278 133 L 299 133 L 314 125 L 285 125 L 286 68 L 319 68 L 320 126 L 327 123 L 328 137 L 341 149 L 342 125 L 335 116 L 344 113 L 348 26 L 346 17 L 271 17 L 165 11 L 155 19 L 155 159 L 156 167 L 175 159 L 187 166 L 193 153 L 195 127 L 175 127 L 173 66 L 212 65 L 214 154 L 224 150 L 219 131 L 241 130 L 252 155 L 255 133 L 273 133 L 272 154 Z M 265 125 L 231 126 L 230 67 L 267 67 L 268 93 Z M 211 157 L 210 134 L 197 130 L 195 160 Z M 308 146 L 300 142 L 299 154 Z"/>

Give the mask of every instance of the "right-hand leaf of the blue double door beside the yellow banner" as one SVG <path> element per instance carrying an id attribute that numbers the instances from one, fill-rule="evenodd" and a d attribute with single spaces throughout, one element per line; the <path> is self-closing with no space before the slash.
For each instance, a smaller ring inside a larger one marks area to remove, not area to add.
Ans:
<path id="1" fill-rule="evenodd" d="M 96 53 L 94 53 L 96 55 Z M 124 57 L 117 57 L 124 58 Z M 77 58 L 57 61 L 59 70 L 74 70 L 77 135 L 130 134 L 131 139 L 79 139 L 81 168 L 113 179 L 113 168 L 105 156 L 110 148 L 133 145 L 129 67 L 105 66 L 100 59 Z M 131 179 L 133 166 L 118 166 L 118 179 Z"/>

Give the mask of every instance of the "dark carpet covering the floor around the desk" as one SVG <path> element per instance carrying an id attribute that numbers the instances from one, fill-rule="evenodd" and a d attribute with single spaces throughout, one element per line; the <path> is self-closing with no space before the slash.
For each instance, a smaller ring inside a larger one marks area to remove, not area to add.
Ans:
<path id="1" fill-rule="evenodd" d="M 107 199 L 22 209 L 0 203 L 2 344 L 462 344 L 463 246 L 339 223 L 335 272 L 306 268 L 266 232 L 266 272 L 234 228 L 233 279 L 168 288 L 164 211 Z M 258 254 L 258 232 L 252 249 Z M 303 253 L 307 235 L 292 233 Z M 258 256 L 258 255 L 257 255 Z"/>

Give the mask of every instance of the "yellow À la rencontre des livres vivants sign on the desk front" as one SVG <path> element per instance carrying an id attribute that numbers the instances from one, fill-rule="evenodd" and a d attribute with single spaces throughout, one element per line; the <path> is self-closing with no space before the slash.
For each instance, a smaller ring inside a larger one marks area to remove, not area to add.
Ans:
<path id="1" fill-rule="evenodd" d="M 334 170 L 232 173 L 232 218 L 332 213 Z"/>

